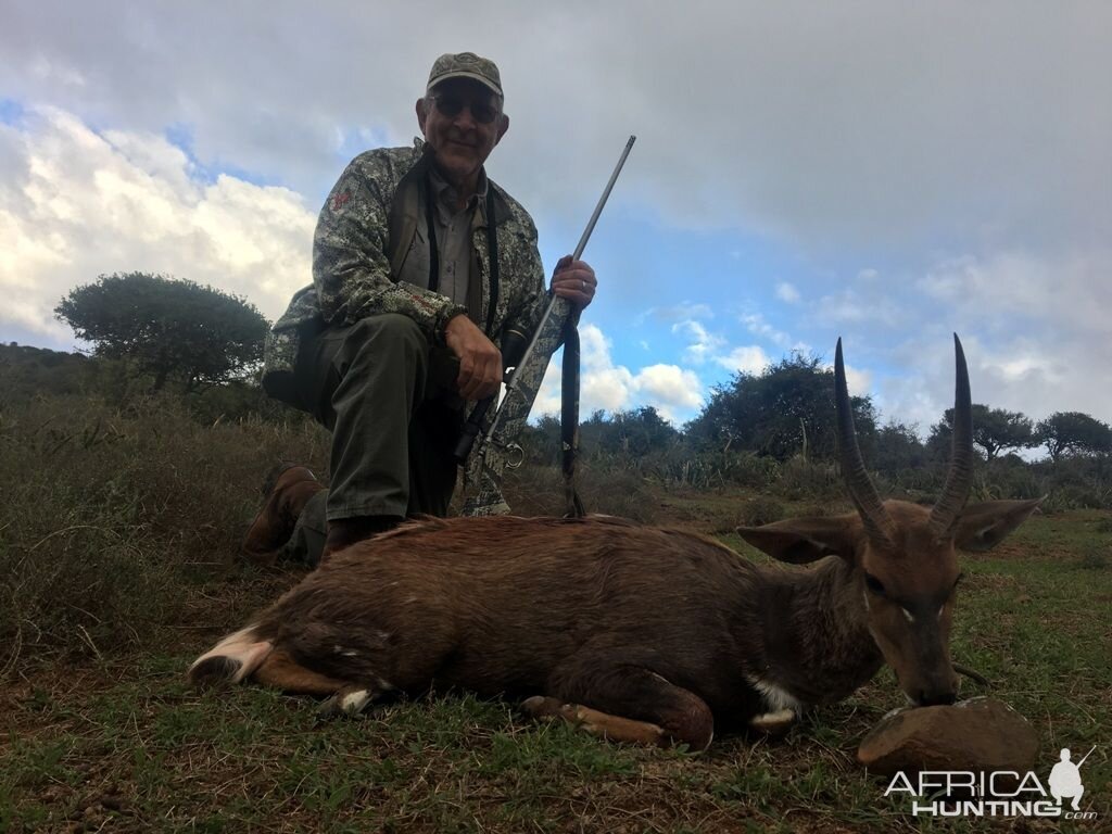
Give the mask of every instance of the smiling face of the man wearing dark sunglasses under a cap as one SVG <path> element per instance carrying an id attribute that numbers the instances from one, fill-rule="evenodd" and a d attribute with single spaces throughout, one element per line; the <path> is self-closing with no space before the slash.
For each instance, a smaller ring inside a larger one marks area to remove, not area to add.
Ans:
<path id="1" fill-rule="evenodd" d="M 417 121 L 449 180 L 474 185 L 494 146 L 509 128 L 497 97 L 478 81 L 449 78 L 417 100 Z"/>

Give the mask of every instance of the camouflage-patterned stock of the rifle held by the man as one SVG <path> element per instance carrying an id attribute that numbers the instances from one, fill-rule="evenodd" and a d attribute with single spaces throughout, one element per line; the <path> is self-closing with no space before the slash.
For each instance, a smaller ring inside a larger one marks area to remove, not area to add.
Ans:
<path id="1" fill-rule="evenodd" d="M 467 459 L 467 469 L 464 474 L 467 499 L 464 502 L 461 515 L 490 516 L 509 513 L 509 505 L 502 494 L 502 476 L 507 460 L 513 455 L 512 444 L 522 436 L 522 429 L 525 428 L 537 391 L 540 390 L 540 381 L 548 369 L 548 361 L 564 338 L 564 328 L 572 317 L 577 317 L 577 311 L 567 299 L 554 296 L 552 305 L 553 311 L 537 334 L 533 353 L 515 371 L 514 387 L 506 394 L 502 404 L 498 430 L 489 443 L 480 440 L 475 444 Z M 578 413 L 578 396 L 576 386 L 576 413 Z M 493 415 L 488 416 L 488 426 L 490 419 Z"/>

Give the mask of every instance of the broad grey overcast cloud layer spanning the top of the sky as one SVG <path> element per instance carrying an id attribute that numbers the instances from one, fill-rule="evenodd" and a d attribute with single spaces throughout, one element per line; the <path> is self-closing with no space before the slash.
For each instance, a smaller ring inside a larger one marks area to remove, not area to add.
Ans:
<path id="1" fill-rule="evenodd" d="M 384 27 L 354 0 L 278 0 L 265 11 L 228 4 L 214 26 L 203 4 L 16 4 L 0 34 L 0 89 L 128 131 L 185 125 L 205 166 L 319 199 L 346 137 L 407 140 L 431 58 L 469 44 L 503 70 L 513 129 L 498 176 L 527 206 L 544 190 L 545 212 L 569 221 L 582 183 L 605 181 L 636 132 L 616 197 L 669 222 L 840 252 L 1112 236 L 1112 107 L 1092 82 L 1112 76 L 1108 3 L 639 10 L 556 6 L 538 17 L 509 0 L 478 10 L 417 0 L 391 8 Z M 539 50 L 524 30 L 543 33 Z M 576 129 L 559 129 L 555 115 L 572 112 Z M 536 178 L 540 159 L 576 173 Z"/>

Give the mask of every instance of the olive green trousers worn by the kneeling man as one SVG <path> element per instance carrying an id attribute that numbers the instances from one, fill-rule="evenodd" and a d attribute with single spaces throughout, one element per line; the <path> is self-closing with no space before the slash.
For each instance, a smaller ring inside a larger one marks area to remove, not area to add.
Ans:
<path id="1" fill-rule="evenodd" d="M 416 322 L 398 314 L 326 328 L 302 341 L 291 405 L 331 431 L 331 480 L 327 497 L 302 512 L 286 555 L 315 564 L 327 520 L 447 515 L 464 424 L 457 373 L 451 353 L 430 346 Z"/>

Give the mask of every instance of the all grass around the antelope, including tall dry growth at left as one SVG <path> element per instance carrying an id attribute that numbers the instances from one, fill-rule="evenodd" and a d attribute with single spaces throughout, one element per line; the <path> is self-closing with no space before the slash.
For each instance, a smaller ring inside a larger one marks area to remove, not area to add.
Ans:
<path id="1" fill-rule="evenodd" d="M 244 567 L 234 549 L 270 463 L 319 466 L 325 449 L 301 423 L 214 426 L 172 404 L 0 411 L 0 832 L 1000 830 L 912 817 L 856 765 L 862 736 L 902 703 L 888 671 L 783 739 L 717 738 L 697 756 L 599 742 L 465 693 L 321 723 L 305 698 L 187 688 L 200 651 L 300 576 Z M 738 549 L 731 530 L 757 516 L 846 509 L 583 476 L 593 509 Z M 515 506 L 560 509 L 552 471 L 510 486 Z M 1098 745 L 1083 775 L 1100 820 L 1017 831 L 1112 824 L 1110 519 L 1035 517 L 964 559 L 955 659 L 1037 727 L 1040 775 L 1060 747 Z"/>

